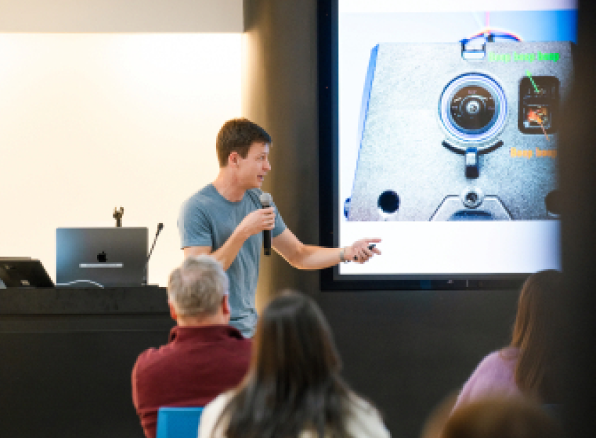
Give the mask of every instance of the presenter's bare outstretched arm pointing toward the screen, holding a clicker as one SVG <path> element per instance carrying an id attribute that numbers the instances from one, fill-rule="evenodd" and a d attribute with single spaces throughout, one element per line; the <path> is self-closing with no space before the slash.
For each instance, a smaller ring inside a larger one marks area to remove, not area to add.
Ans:
<path id="1" fill-rule="evenodd" d="M 371 244 L 377 244 L 381 239 L 360 239 L 344 248 L 326 248 L 315 245 L 305 245 L 286 229 L 282 234 L 274 237 L 272 246 L 289 264 L 299 269 L 323 269 L 336 265 L 343 260 L 365 263 L 374 254 L 381 254 L 378 248 L 369 249 Z"/>

